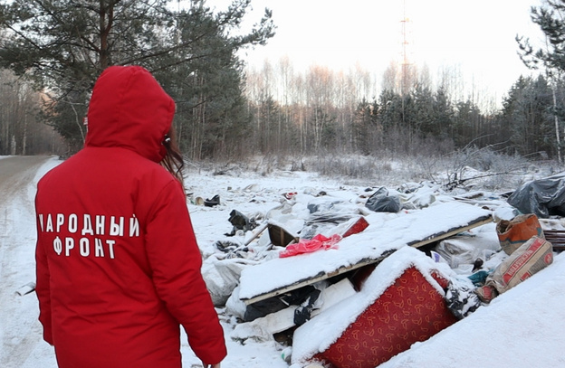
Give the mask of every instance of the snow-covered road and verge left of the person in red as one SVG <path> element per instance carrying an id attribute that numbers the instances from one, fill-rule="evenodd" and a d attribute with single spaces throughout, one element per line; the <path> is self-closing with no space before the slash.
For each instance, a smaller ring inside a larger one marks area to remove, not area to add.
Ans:
<path id="1" fill-rule="evenodd" d="M 34 294 L 15 291 L 35 279 L 34 181 L 49 159 L 0 159 L 0 366 L 6 368 L 32 366 L 28 358 L 42 341 L 37 313 L 29 313 L 37 310 Z"/>

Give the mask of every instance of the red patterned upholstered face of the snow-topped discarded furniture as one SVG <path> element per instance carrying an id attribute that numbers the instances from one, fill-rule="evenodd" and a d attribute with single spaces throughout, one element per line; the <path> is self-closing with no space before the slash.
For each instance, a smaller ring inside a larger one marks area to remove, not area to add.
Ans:
<path id="1" fill-rule="evenodd" d="M 374 368 L 456 321 L 436 288 L 411 267 L 316 357 L 337 368 Z"/>

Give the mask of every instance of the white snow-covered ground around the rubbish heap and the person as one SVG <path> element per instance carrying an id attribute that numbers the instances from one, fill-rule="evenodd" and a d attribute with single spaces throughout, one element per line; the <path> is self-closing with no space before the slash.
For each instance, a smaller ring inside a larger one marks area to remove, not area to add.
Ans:
<path id="1" fill-rule="evenodd" d="M 18 196 L 0 201 L 0 366 L 5 368 L 56 367 L 53 347 L 44 343 L 41 337 L 34 294 L 19 296 L 15 291 L 34 280 L 35 184 L 47 170 L 60 162 L 55 158 L 48 159 L 32 176 L 34 179 L 18 192 Z M 316 194 L 325 192 L 325 198 L 348 203 L 345 211 L 350 211 L 351 208 L 361 208 L 363 196 L 374 192 L 366 192 L 367 186 L 378 187 L 378 183 L 347 185 L 337 179 L 320 178 L 304 172 L 212 175 L 205 171 L 189 171 L 187 190 L 192 196 L 188 207 L 196 238 L 206 257 L 203 269 L 206 271 L 211 267 L 210 259 L 222 258 L 223 253 L 215 248 L 216 241 L 243 244 L 249 239 L 250 233 L 233 237 L 225 235 L 233 230 L 228 221 L 232 210 L 261 221 L 267 212 L 272 213 L 273 209 L 287 201 L 282 193 L 296 193 L 293 195 L 295 202 L 292 215 L 299 222 L 289 220 L 288 223 L 290 228 L 300 228 L 303 224 L 300 222 L 301 216 L 306 212 L 307 204 L 321 201 Z M 428 193 L 417 197 L 420 204 L 426 198 L 429 200 L 434 195 L 437 198 L 443 195 L 429 192 L 430 188 L 426 190 Z M 197 204 L 197 197 L 207 199 L 215 194 L 220 196 L 219 205 L 206 207 Z M 417 202 L 416 198 L 413 200 Z M 488 202 L 491 208 L 496 207 L 498 213 L 503 214 L 508 210 L 503 201 L 494 198 Z M 372 216 L 375 217 L 374 214 Z M 378 221 L 385 224 L 398 215 L 378 216 Z M 493 229 L 492 224 L 484 225 L 484 239 L 492 241 Z M 257 241 L 259 246 L 261 241 L 261 238 Z M 273 257 L 273 251 L 265 251 L 263 259 L 258 256 L 259 253 L 256 253 L 256 257 L 244 258 L 243 263 L 249 265 Z M 480 307 L 471 316 L 425 342 L 414 344 L 407 352 L 398 354 L 379 367 L 565 366 L 565 357 L 560 350 L 565 345 L 564 257 L 562 254 L 556 255 L 550 267 L 496 297 L 488 307 Z M 241 326 L 237 318 L 225 308 L 219 308 L 218 313 L 228 345 L 228 356 L 222 366 L 289 367 L 290 363 L 281 357 L 283 351 L 288 354 L 286 346 L 272 338 L 242 338 L 241 331 L 235 333 L 235 327 Z M 184 336 L 183 341 L 183 366 L 200 366 Z M 302 368 L 299 364 L 292 366 L 299 367 Z"/>

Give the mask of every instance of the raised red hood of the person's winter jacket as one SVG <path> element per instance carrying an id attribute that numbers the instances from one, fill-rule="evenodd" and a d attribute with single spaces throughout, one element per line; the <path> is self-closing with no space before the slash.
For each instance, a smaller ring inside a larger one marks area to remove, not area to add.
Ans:
<path id="1" fill-rule="evenodd" d="M 159 162 L 175 101 L 139 66 L 111 66 L 92 90 L 84 146 L 123 147 Z"/>

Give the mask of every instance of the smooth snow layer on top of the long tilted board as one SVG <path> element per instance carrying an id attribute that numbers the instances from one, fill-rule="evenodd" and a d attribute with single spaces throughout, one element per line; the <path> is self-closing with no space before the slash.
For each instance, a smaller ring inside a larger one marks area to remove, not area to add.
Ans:
<path id="1" fill-rule="evenodd" d="M 369 227 L 338 243 L 337 249 L 271 259 L 244 269 L 239 297 L 251 299 L 319 274 L 355 265 L 362 259 L 378 259 L 388 250 L 397 250 L 413 241 L 424 240 L 440 231 L 463 227 L 490 212 L 465 203 L 436 203 L 421 211 L 367 216 Z M 292 269 L 292 272 L 288 272 Z"/>

